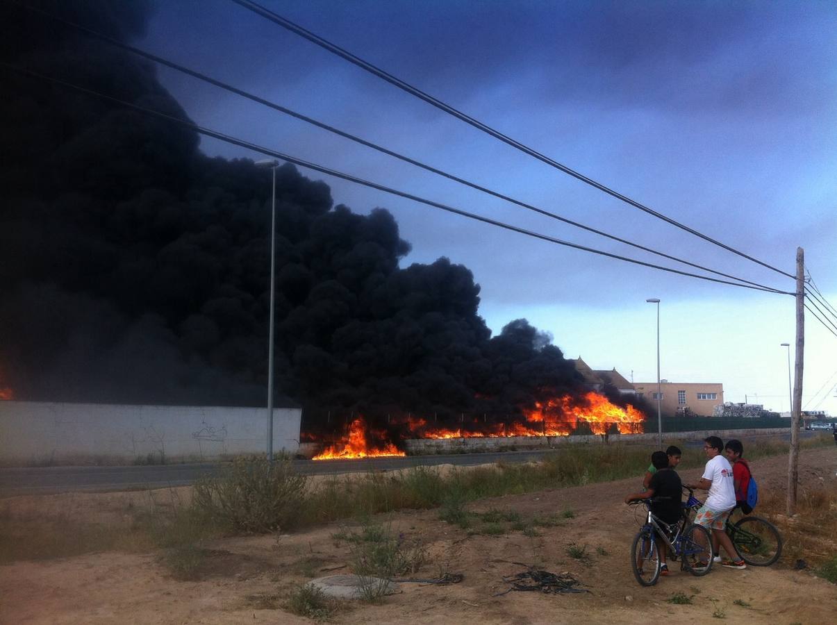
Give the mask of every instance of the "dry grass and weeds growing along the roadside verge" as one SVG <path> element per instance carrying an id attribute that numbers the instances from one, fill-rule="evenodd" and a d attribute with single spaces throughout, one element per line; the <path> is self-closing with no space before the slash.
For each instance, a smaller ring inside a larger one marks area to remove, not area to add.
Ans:
<path id="1" fill-rule="evenodd" d="M 822 441 L 815 441 L 805 446 L 822 444 Z M 748 445 L 747 458 L 786 452 L 787 443 L 756 443 Z M 470 501 L 639 475 L 647 464 L 649 453 L 650 448 L 644 446 L 578 445 L 541 463 L 497 464 L 449 471 L 419 467 L 390 474 L 328 478 L 317 484 L 308 484 L 307 488 L 302 485 L 304 481 L 300 480 L 297 484 L 295 476 L 288 475 L 287 480 L 279 481 L 293 483 L 290 489 L 292 493 L 302 489 L 304 493 L 300 500 L 290 498 L 294 500 L 294 505 L 282 505 L 281 508 L 293 510 L 298 525 L 310 526 L 333 520 L 357 519 L 385 511 L 441 506 L 440 513 L 445 520 L 467 529 L 471 521 L 477 518 L 465 510 L 465 504 Z M 702 466 L 702 462 L 698 454 L 690 453 L 681 467 L 686 469 L 690 464 Z M 244 471 L 248 478 L 244 480 L 245 485 L 253 485 L 251 473 Z M 270 481 L 258 481 L 258 488 L 245 489 L 243 492 L 248 496 L 259 494 L 258 499 L 269 500 L 271 506 L 275 507 L 273 504 L 277 491 L 271 486 L 272 483 L 268 484 Z M 212 497 L 204 499 L 213 504 L 229 504 L 230 501 L 240 499 L 239 490 L 234 489 L 237 497 L 227 497 L 228 491 L 213 491 L 210 493 Z M 173 569 L 179 567 L 191 570 L 195 567 L 196 554 L 203 553 L 203 541 L 229 531 L 229 526 L 233 524 L 225 523 L 219 527 L 218 515 L 205 514 L 212 511 L 208 509 L 213 509 L 213 506 L 203 506 L 203 515 L 195 514 L 201 506 L 197 506 L 196 510 L 191 496 L 187 495 L 189 492 L 190 489 L 170 489 L 115 497 L 112 500 L 116 503 L 106 511 L 106 515 L 91 509 L 85 510 L 85 515 L 74 517 L 65 512 L 74 507 L 73 500 L 63 496 L 46 499 L 55 508 L 47 512 L 44 505 L 40 504 L 30 505 L 27 510 L 18 510 L 0 502 L 0 563 L 77 556 L 96 551 L 149 552 L 161 549 L 167 550 L 169 560 L 173 558 Z M 270 517 L 270 523 L 262 524 L 266 527 L 287 525 L 281 520 L 275 523 L 272 521 L 280 515 L 273 515 L 275 510 L 271 506 L 267 506 L 271 515 L 262 514 L 264 506 L 257 506 L 258 510 L 255 511 L 259 514 L 254 515 L 258 517 L 257 520 Z M 253 505 L 250 502 L 249 507 L 233 507 L 235 510 L 250 510 Z M 783 561 L 793 565 L 798 558 L 803 558 L 810 566 L 824 566 L 826 562 L 833 561 L 837 554 L 834 542 L 834 536 L 837 536 L 837 495 L 824 487 L 801 489 L 799 520 L 783 519 L 780 516 L 783 507 L 781 495 L 766 492 L 756 512 L 757 515 L 767 516 L 783 532 L 786 543 Z M 531 521 L 511 516 L 506 518 L 497 510 L 489 510 L 483 515 L 486 516 L 485 522 L 513 523 L 516 526 L 512 530 L 528 529 L 531 535 L 537 535 L 535 528 L 538 526 L 567 522 L 573 512 L 565 510 L 562 515 Z M 238 530 L 258 531 L 261 527 L 254 526 L 250 518 L 245 521 L 243 525 L 238 525 Z M 489 529 L 495 530 L 493 527 Z"/>

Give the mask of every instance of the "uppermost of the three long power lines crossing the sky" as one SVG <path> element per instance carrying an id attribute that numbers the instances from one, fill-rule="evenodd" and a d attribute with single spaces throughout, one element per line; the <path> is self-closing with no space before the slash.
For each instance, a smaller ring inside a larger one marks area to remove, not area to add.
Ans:
<path id="1" fill-rule="evenodd" d="M 319 35 L 316 35 L 315 33 L 311 33 L 311 31 L 306 30 L 306 28 L 302 28 L 298 24 L 291 22 L 287 18 L 283 18 L 279 14 L 270 11 L 268 8 L 264 8 L 263 6 L 261 6 L 258 3 L 252 2 L 252 0 L 232 0 L 232 2 L 234 2 L 236 4 L 239 4 L 241 7 L 249 9 L 253 13 L 256 13 L 257 15 L 261 16 L 262 18 L 270 20 L 271 22 L 281 26 L 282 28 L 290 30 L 291 33 L 295 33 L 297 35 L 300 35 L 300 37 L 302 37 L 302 38 L 306 38 L 312 44 L 316 44 L 316 45 L 320 46 L 321 48 L 328 50 L 332 54 L 336 54 L 337 56 L 341 57 L 342 59 L 347 60 L 349 63 L 355 64 L 355 65 L 357 65 L 357 67 L 359 67 L 361 69 L 365 69 L 367 72 L 369 72 L 371 74 L 374 74 L 378 78 L 386 80 L 391 85 L 394 85 L 394 86 L 398 87 L 398 89 L 404 90 L 408 94 L 414 95 L 415 97 L 419 98 L 420 100 L 424 100 L 429 105 L 433 105 L 436 108 L 438 108 L 439 110 L 444 110 L 445 113 L 448 113 L 449 115 L 453 115 L 454 117 L 456 117 L 459 120 L 465 121 L 465 123 L 470 124 L 470 126 L 474 126 L 476 129 L 478 129 L 480 131 L 483 131 L 490 136 L 493 136 L 495 139 L 498 139 L 499 141 L 503 141 L 507 145 L 512 146 L 512 147 L 516 148 L 517 150 L 522 151 L 523 153 L 527 154 L 528 156 L 532 156 L 533 158 L 537 158 L 538 161 L 542 161 L 549 166 L 555 167 L 556 169 L 560 170 L 561 172 L 564 172 L 564 173 L 568 174 L 569 176 L 572 176 L 572 177 L 576 178 L 577 180 L 580 180 L 581 182 L 584 182 L 585 184 L 588 184 L 589 186 L 598 189 L 601 192 L 607 193 L 611 197 L 615 197 L 616 199 L 618 199 L 622 202 L 625 202 L 625 203 L 629 204 L 630 206 L 633 206 L 634 208 L 639 208 L 639 210 L 644 211 L 644 213 L 648 213 L 650 215 L 653 215 L 655 218 L 662 219 L 666 223 L 670 223 L 671 225 L 676 226 L 677 228 L 685 230 L 687 233 L 694 234 L 696 237 L 702 238 L 705 241 L 708 241 L 709 243 L 714 243 L 715 245 L 726 249 L 728 252 L 732 252 L 733 254 L 737 254 L 737 255 L 741 256 L 742 258 L 752 260 L 753 263 L 760 264 L 763 267 L 766 267 L 768 269 L 773 269 L 773 271 L 776 271 L 779 274 L 783 274 L 783 275 L 787 276 L 788 278 L 794 278 L 795 277 L 793 274 L 788 274 L 787 272 L 783 271 L 782 269 L 777 269 L 776 267 L 773 267 L 773 265 L 770 265 L 770 264 L 764 263 L 761 260 L 755 259 L 752 256 L 749 256 L 748 254 L 744 254 L 743 252 L 737 250 L 736 248 L 732 248 L 725 243 L 721 243 L 720 241 L 717 241 L 716 239 L 707 236 L 706 234 L 698 232 L 696 229 L 690 228 L 689 226 L 686 226 L 685 224 L 680 223 L 673 218 L 667 217 L 662 213 L 658 213 L 654 209 L 652 209 L 650 207 L 647 207 L 644 204 L 641 204 L 641 203 L 637 202 L 636 200 L 631 199 L 630 197 L 624 196 L 622 193 L 614 191 L 614 189 L 611 189 L 610 187 L 606 187 L 601 182 L 596 182 L 595 180 L 593 180 L 593 178 L 584 176 L 582 173 L 576 172 L 575 170 L 571 169 L 570 167 L 568 167 L 566 165 L 562 165 L 558 161 L 555 161 L 552 158 L 550 158 L 549 156 L 544 156 L 540 152 L 532 149 L 531 147 L 522 144 L 520 141 L 516 141 L 516 140 L 512 139 L 511 137 L 502 134 L 500 131 L 496 131 L 494 128 L 484 124 L 483 122 L 481 122 L 479 120 L 476 120 L 475 118 L 471 117 L 470 115 L 466 115 L 465 113 L 461 112 L 460 110 L 454 109 L 453 106 L 445 104 L 441 100 L 438 100 L 438 99 L 434 98 L 434 96 L 429 95 L 422 90 L 419 90 L 417 87 L 413 87 L 413 85 L 409 85 L 407 82 L 403 81 L 402 79 L 399 79 L 399 78 L 396 78 L 395 76 L 393 76 L 393 74 L 388 74 L 388 72 L 384 71 L 383 69 L 377 68 L 375 65 L 373 65 L 371 63 L 368 63 L 367 61 L 365 61 L 363 59 L 360 59 L 359 57 L 357 57 L 354 54 L 348 52 L 347 50 L 340 48 L 336 44 L 332 44 L 330 41 L 326 40 L 325 38 L 322 38 Z"/>

